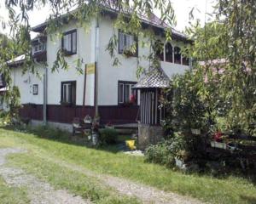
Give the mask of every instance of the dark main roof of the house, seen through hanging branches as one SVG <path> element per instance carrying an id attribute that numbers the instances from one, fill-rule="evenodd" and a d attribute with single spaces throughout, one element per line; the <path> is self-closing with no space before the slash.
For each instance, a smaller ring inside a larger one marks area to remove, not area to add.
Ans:
<path id="1" fill-rule="evenodd" d="M 77 11 L 77 8 L 74 9 L 73 11 L 69 12 L 68 14 L 62 14 L 61 15 L 61 19 L 64 19 L 64 20 L 67 19 L 69 14 L 73 14 L 76 11 Z M 110 4 L 106 3 L 105 5 L 102 6 L 102 12 L 103 12 L 103 14 L 117 15 L 119 11 L 114 6 L 113 3 L 110 3 Z M 130 14 L 129 11 L 127 11 L 127 14 Z M 141 14 L 140 18 L 142 20 L 143 25 L 145 25 L 145 26 L 149 26 L 149 25 L 153 26 L 155 29 L 159 29 L 162 32 L 166 31 L 167 27 L 170 27 L 165 22 L 160 20 L 155 14 L 152 14 L 149 19 L 148 19 L 147 16 Z M 47 25 L 48 25 L 48 23 L 49 23 L 49 21 L 45 21 L 44 23 L 39 24 L 38 26 L 34 26 L 34 27 L 32 27 L 32 31 L 44 32 L 46 27 L 47 27 Z M 175 30 L 173 28 L 172 28 L 172 37 L 174 39 L 179 39 L 179 40 L 190 42 L 188 36 L 186 36 L 182 32 L 177 31 L 177 30 Z"/>

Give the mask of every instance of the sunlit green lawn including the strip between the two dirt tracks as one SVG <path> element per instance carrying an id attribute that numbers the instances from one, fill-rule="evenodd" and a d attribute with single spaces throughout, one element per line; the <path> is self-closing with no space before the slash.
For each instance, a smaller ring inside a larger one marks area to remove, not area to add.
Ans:
<path id="1" fill-rule="evenodd" d="M 97 184 L 96 179 L 86 178 L 84 174 L 65 169 L 53 161 L 61 160 L 96 173 L 129 178 L 160 190 L 190 195 L 201 201 L 256 203 L 256 186 L 246 178 L 229 176 L 218 179 L 207 175 L 180 173 L 160 165 L 145 163 L 143 157 L 128 156 L 116 152 L 114 148 L 91 149 L 68 141 L 66 136 L 60 139 L 48 135 L 49 139 L 44 139 L 38 135 L 45 136 L 51 132 L 43 132 L 44 130 L 40 130 L 32 134 L 0 129 L 0 147 L 18 146 L 28 150 L 26 154 L 9 156 L 9 165 L 25 168 L 56 187 L 66 187 L 73 193 L 89 197 L 96 202 L 137 201 L 134 198 L 117 197 L 114 190 L 106 190 L 101 184 Z"/>

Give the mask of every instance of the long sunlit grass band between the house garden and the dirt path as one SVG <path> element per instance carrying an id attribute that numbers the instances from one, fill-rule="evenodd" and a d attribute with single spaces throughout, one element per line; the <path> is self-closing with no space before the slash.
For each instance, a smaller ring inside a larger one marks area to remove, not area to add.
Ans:
<path id="1" fill-rule="evenodd" d="M 246 178 L 227 176 L 226 178 L 218 179 L 207 175 L 184 174 L 160 165 L 145 163 L 140 156 L 117 153 L 111 148 L 95 150 L 73 144 L 68 142 L 67 139 L 63 139 L 60 142 L 38 138 L 30 133 L 16 133 L 4 129 L 0 129 L 0 144 L 21 146 L 30 150 L 31 153 L 21 158 L 20 161 L 12 157 L 11 161 L 13 163 L 23 167 L 28 165 L 25 164 L 26 161 L 50 157 L 53 160 L 57 159 L 68 162 L 71 165 L 88 168 L 96 173 L 108 173 L 117 177 L 129 178 L 142 184 L 148 184 L 160 190 L 190 195 L 201 201 L 211 201 L 212 203 L 256 203 L 256 187 Z M 20 156 L 16 158 L 20 158 Z M 34 161 L 29 162 L 30 166 L 31 162 Z M 40 160 L 38 162 L 44 163 Z M 50 167 L 46 166 L 42 167 L 42 169 L 50 169 Z M 32 166 L 26 168 L 29 171 L 34 171 Z M 51 182 L 59 185 L 55 181 L 55 176 L 52 175 L 53 181 Z"/>

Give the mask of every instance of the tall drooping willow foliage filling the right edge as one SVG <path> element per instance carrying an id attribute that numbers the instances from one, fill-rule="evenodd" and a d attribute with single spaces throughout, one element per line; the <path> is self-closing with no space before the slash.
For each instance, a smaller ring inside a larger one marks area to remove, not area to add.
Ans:
<path id="1" fill-rule="evenodd" d="M 256 4 L 219 0 L 216 8 L 212 23 L 189 29 L 188 54 L 204 61 L 195 63 L 198 95 L 214 122 L 224 116 L 225 129 L 256 136 Z"/>

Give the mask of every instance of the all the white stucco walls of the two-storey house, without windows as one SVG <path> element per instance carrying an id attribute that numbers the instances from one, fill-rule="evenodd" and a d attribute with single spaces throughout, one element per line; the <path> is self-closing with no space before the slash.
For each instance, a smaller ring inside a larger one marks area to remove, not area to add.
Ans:
<path id="1" fill-rule="evenodd" d="M 47 64 L 48 64 L 48 104 L 60 105 L 61 101 L 61 82 L 76 81 L 76 105 L 83 105 L 84 96 L 84 75 L 79 74 L 76 69 L 76 60 L 82 59 L 82 68 L 85 64 L 96 61 L 96 20 L 92 20 L 89 30 L 84 30 L 75 22 L 64 26 L 62 31 L 77 29 L 77 54 L 66 57 L 69 69 L 67 71 L 59 69 L 52 72 L 56 54 L 61 48 L 61 38 L 47 37 Z M 118 105 L 118 81 L 137 82 L 137 58 L 125 58 L 118 54 L 121 65 L 113 66 L 113 59 L 106 51 L 109 39 L 113 36 L 113 21 L 108 17 L 99 20 L 99 61 L 97 64 L 98 73 L 98 105 Z M 140 39 L 139 39 L 140 41 Z M 177 42 L 173 42 L 177 44 Z M 139 43 L 138 55 L 148 54 L 148 48 L 142 48 Z M 148 68 L 146 60 L 140 60 L 140 65 Z M 169 77 L 177 73 L 183 73 L 189 66 L 177 65 L 169 62 L 161 62 L 163 70 Z M 43 67 L 41 67 L 43 71 Z M 42 72 L 43 73 L 43 72 Z M 20 88 L 21 103 L 43 104 L 43 78 L 26 73 L 21 75 L 21 69 L 15 68 L 13 71 L 14 82 Z M 30 78 L 30 82 L 25 82 Z M 38 83 L 38 95 L 30 93 L 30 86 Z M 94 76 L 90 75 L 86 79 L 85 105 L 94 105 Z"/>

